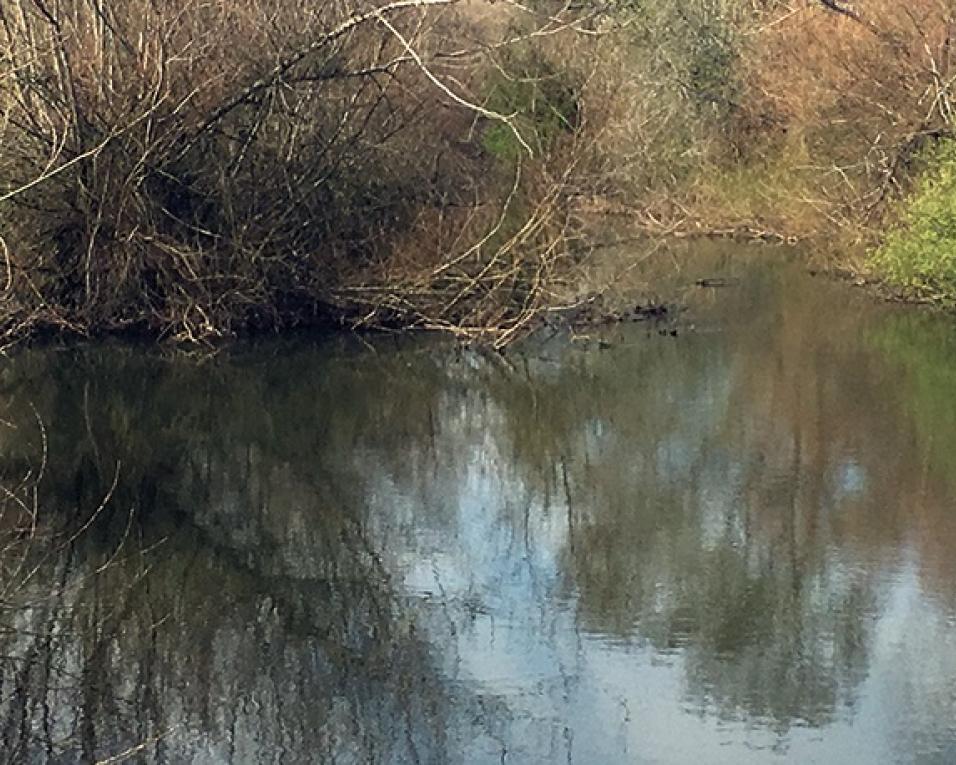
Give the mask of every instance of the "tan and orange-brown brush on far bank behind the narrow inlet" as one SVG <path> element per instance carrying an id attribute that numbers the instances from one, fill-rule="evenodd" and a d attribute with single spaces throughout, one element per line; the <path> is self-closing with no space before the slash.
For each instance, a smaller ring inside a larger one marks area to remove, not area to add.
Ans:
<path id="1" fill-rule="evenodd" d="M 838 242 L 845 264 L 952 134 L 954 21 L 936 0 L 644 9 L 609 54 L 610 209 L 662 233 Z"/>

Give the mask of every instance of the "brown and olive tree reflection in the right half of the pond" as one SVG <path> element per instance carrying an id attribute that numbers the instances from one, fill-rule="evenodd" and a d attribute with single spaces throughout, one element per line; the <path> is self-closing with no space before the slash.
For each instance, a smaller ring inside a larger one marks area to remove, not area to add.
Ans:
<path id="1" fill-rule="evenodd" d="M 742 297 L 728 310 L 761 303 Z M 880 561 L 926 489 L 883 361 L 831 297 L 784 291 L 748 331 L 579 356 L 498 398 L 516 453 L 568 466 L 587 629 L 679 655 L 694 705 L 777 729 L 854 703 Z"/>

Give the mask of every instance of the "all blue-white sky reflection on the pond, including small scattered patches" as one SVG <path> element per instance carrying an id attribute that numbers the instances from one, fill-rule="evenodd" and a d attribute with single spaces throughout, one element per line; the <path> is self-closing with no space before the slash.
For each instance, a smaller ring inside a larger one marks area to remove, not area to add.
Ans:
<path id="1" fill-rule="evenodd" d="M 744 710 L 710 709 L 706 700 L 688 697 L 694 670 L 685 643 L 661 650 L 642 639 L 639 626 L 631 638 L 582 627 L 580 594 L 565 573 L 571 544 L 565 496 L 554 491 L 545 505 L 540 492 L 523 485 L 494 436 L 501 413 L 482 409 L 477 424 L 469 416 L 460 409 L 449 429 L 464 435 L 467 448 L 437 445 L 437 453 L 453 457 L 432 468 L 429 481 L 440 491 L 427 506 L 418 494 L 382 486 L 371 521 L 380 514 L 403 519 L 397 536 L 383 522 L 391 565 L 452 685 L 487 705 L 476 721 L 481 733 L 460 743 L 466 760 L 498 762 L 506 751 L 507 762 L 947 761 L 926 752 L 938 752 L 951 735 L 953 668 L 934 663 L 956 661 L 956 630 L 923 597 L 912 563 L 878 573 L 879 607 L 865 616 L 872 624 L 867 671 L 822 727 L 796 717 L 780 728 Z M 695 434 L 707 425 L 699 419 L 653 447 L 658 480 L 686 480 L 701 458 Z M 600 420 L 586 422 L 583 431 L 592 458 L 614 440 L 613 427 Z M 641 462 L 635 454 L 633 465 Z M 717 450 L 705 462 L 693 496 L 702 549 L 735 547 L 745 535 L 743 513 L 735 512 L 743 509 L 745 465 Z M 834 499 L 866 489 L 853 460 L 830 474 Z M 826 578 L 806 595 L 822 612 L 866 579 L 872 565 L 850 553 L 829 555 Z M 658 586 L 662 608 L 672 598 L 669 586 Z M 832 660 L 826 650 L 822 658 Z"/>

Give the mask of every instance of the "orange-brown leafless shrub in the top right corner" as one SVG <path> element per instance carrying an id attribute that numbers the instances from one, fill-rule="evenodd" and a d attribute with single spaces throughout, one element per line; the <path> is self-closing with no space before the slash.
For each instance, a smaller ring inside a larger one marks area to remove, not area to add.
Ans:
<path id="1" fill-rule="evenodd" d="M 831 223 L 878 220 L 916 152 L 950 133 L 954 21 L 936 0 L 876 0 L 853 14 L 811 7 L 761 30 L 750 64 L 761 117 L 810 159 Z"/>

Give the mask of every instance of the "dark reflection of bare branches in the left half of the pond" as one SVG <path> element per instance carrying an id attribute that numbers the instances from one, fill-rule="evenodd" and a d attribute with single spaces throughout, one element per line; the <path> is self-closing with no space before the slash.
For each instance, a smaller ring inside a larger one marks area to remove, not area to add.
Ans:
<path id="1" fill-rule="evenodd" d="M 328 433 L 275 437 L 268 420 L 283 412 L 265 404 L 296 402 L 250 400 L 254 386 L 221 409 L 154 407 L 180 386 L 201 391 L 202 371 L 175 381 L 114 361 L 103 377 L 73 367 L 82 396 L 55 370 L 31 391 L 51 425 L 51 523 L 95 506 L 101 465 L 136 459 L 98 522 L 7 612 L 0 761 L 95 761 L 144 742 L 138 756 L 157 762 L 447 759 L 454 711 L 414 615 L 310 451 Z M 130 533 L 97 573 L 128 509 Z"/>

